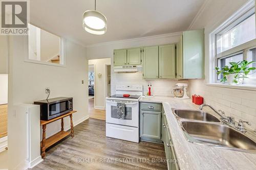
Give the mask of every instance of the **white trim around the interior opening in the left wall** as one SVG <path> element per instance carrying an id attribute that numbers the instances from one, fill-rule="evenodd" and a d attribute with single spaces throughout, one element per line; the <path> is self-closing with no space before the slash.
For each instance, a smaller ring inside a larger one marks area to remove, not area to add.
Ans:
<path id="1" fill-rule="evenodd" d="M 44 30 L 46 32 L 49 32 L 45 29 L 42 29 L 36 25 L 34 25 L 33 23 L 29 23 L 30 25 L 32 26 L 35 26 L 41 30 Z M 51 33 L 51 32 L 49 32 Z M 51 33 L 53 34 L 53 33 Z M 53 35 L 56 35 L 56 34 L 53 34 Z M 66 39 L 59 36 L 59 35 L 56 35 L 58 37 L 60 37 L 60 42 L 59 42 L 59 52 L 60 52 L 60 63 L 50 63 L 50 62 L 45 62 L 45 61 L 38 61 L 38 60 L 32 60 L 32 59 L 29 59 L 29 45 L 24 45 L 25 49 L 25 62 L 30 62 L 30 63 L 36 63 L 36 64 L 45 64 L 45 65 L 52 65 L 52 66 L 59 66 L 59 67 L 66 67 Z M 27 38 L 24 39 L 24 44 L 29 44 L 29 36 L 27 36 Z"/>

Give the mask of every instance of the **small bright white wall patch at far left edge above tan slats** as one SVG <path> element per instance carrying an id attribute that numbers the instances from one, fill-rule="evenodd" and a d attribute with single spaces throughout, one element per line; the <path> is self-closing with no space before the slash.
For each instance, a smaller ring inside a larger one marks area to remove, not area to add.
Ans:
<path id="1" fill-rule="evenodd" d="M 8 75 L 0 74 L 0 105 L 8 103 Z"/>

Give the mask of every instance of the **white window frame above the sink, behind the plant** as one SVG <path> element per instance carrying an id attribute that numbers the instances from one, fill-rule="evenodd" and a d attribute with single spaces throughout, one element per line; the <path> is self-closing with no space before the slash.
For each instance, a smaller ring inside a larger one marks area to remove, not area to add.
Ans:
<path id="1" fill-rule="evenodd" d="M 218 80 L 217 71 L 215 69 L 215 67 L 218 66 L 218 59 L 227 58 L 243 52 L 243 59 L 248 60 L 249 50 L 256 47 L 256 39 L 250 40 L 217 54 L 217 36 L 220 33 L 226 32 L 233 27 L 236 27 L 239 23 L 247 19 L 249 16 L 253 15 L 253 13 L 255 13 L 255 3 L 251 0 L 209 34 L 209 74 L 207 79 L 208 84 L 221 83 L 220 80 Z M 250 78 L 250 80 L 252 81 L 245 81 L 243 85 L 246 86 L 246 84 L 253 83 L 253 85 L 256 86 L 256 78 Z"/>

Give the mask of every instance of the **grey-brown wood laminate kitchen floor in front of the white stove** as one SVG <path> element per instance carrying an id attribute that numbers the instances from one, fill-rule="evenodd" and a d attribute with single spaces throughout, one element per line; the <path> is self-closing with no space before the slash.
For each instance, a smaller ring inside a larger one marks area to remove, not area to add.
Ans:
<path id="1" fill-rule="evenodd" d="M 32 169 L 167 169 L 166 163 L 154 162 L 165 159 L 163 144 L 106 137 L 104 120 L 89 118 L 74 127 L 74 133 L 74 138 L 50 148 L 45 160 Z"/>

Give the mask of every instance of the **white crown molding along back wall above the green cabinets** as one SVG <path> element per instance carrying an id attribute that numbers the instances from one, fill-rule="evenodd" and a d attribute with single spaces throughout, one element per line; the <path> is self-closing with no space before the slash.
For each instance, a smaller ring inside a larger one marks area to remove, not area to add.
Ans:
<path id="1" fill-rule="evenodd" d="M 121 42 L 131 42 L 131 41 L 138 41 L 138 40 L 151 40 L 151 39 L 157 39 L 157 38 L 166 38 L 166 37 L 179 36 L 181 34 L 182 34 L 182 32 L 176 32 L 176 33 L 153 35 L 153 36 L 140 37 L 140 38 L 124 39 L 124 40 L 118 40 L 118 41 L 100 42 L 100 43 L 95 43 L 95 44 L 87 45 L 86 47 L 110 45 L 110 44 L 117 44 L 117 43 L 121 43 Z"/>

